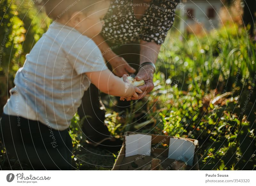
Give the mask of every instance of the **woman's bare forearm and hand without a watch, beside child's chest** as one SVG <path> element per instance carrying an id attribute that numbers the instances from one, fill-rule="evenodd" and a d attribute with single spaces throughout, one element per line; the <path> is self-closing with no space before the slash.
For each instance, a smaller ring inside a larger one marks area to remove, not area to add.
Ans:
<path id="1" fill-rule="evenodd" d="M 124 58 L 122 58 L 120 56 L 117 56 L 112 50 L 110 50 L 110 47 L 108 46 L 108 43 L 106 43 L 106 41 L 104 40 L 104 38 L 100 34 L 95 36 L 93 38 L 93 41 L 98 45 L 103 57 L 111 65 L 114 74 L 116 74 L 119 77 L 122 77 L 124 74 L 133 74 L 133 73 L 135 73 L 136 70 L 134 68 L 132 68 L 124 60 Z"/>

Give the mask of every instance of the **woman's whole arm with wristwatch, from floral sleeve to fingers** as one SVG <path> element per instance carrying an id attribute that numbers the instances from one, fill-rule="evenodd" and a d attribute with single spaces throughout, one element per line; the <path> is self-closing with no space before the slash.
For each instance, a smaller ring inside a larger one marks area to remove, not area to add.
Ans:
<path id="1" fill-rule="evenodd" d="M 168 31 L 173 25 L 175 8 L 180 0 L 162 0 L 154 1 L 157 6 L 166 6 L 167 12 L 154 9 L 155 17 L 151 17 L 148 26 L 144 27 L 144 33 L 141 35 L 141 59 L 140 63 L 152 62 L 155 63 L 161 44 L 164 43 L 164 39 L 167 36 Z M 150 26 L 151 25 L 151 26 Z M 155 26 L 155 27 L 154 27 Z M 157 29 L 156 29 L 157 28 Z M 146 96 L 147 93 L 154 88 L 153 84 L 153 70 L 152 66 L 143 66 L 137 74 L 136 79 L 145 81 L 145 85 L 139 87 L 143 93 L 139 95 L 139 99 Z M 134 98 L 133 98 L 134 99 Z"/>

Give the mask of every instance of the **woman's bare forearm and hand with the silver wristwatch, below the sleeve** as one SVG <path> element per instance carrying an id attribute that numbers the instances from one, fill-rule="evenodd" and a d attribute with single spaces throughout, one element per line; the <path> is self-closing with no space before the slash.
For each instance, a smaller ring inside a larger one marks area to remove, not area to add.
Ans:
<path id="1" fill-rule="evenodd" d="M 152 62 L 156 63 L 158 53 L 160 50 L 161 45 L 156 44 L 155 42 L 147 42 L 147 41 L 140 41 L 140 64 L 144 62 Z M 138 94 L 138 98 L 132 98 L 135 99 L 141 99 L 145 97 L 149 92 L 151 92 L 154 89 L 154 83 L 153 83 L 153 74 L 154 74 L 154 67 L 151 65 L 145 65 L 140 68 L 137 76 L 135 77 L 136 80 L 144 80 L 145 85 L 142 85 L 139 87 L 140 90 L 143 91 L 143 93 Z"/>

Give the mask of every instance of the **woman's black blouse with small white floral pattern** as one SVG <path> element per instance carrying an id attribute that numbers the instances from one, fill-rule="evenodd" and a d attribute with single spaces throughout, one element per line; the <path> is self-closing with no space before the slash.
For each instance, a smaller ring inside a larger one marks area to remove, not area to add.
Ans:
<path id="1" fill-rule="evenodd" d="M 164 43 L 172 27 L 180 0 L 152 0 L 150 4 L 133 4 L 133 0 L 114 0 L 106 14 L 101 35 L 112 44 L 136 43 L 139 40 Z M 135 17 L 135 6 L 148 6 L 143 17 Z"/>

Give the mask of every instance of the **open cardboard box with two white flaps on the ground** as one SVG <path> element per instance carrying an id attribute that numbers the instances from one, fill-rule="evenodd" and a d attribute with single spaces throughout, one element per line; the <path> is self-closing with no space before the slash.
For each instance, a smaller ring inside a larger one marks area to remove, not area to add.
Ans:
<path id="1" fill-rule="evenodd" d="M 126 132 L 112 170 L 141 170 L 152 158 L 160 159 L 164 170 L 176 170 L 181 162 L 186 162 L 186 170 L 199 170 L 197 148 L 195 139 Z"/>

